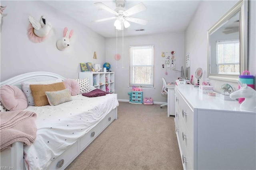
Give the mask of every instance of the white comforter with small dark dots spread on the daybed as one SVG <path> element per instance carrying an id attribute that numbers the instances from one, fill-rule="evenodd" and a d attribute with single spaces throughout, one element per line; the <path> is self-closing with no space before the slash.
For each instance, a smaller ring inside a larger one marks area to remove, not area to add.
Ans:
<path id="1" fill-rule="evenodd" d="M 116 94 L 91 98 L 76 95 L 72 99 L 57 106 L 29 106 L 25 109 L 37 114 L 36 140 L 34 144 L 24 146 L 30 169 L 46 169 L 79 137 L 118 106 Z"/>

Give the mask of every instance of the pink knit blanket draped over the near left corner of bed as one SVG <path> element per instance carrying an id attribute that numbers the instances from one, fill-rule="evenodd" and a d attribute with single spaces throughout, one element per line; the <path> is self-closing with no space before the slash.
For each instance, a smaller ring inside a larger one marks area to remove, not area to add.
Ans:
<path id="1" fill-rule="evenodd" d="M 0 114 L 0 151 L 14 142 L 30 145 L 36 139 L 36 113 L 30 111 L 7 111 Z"/>

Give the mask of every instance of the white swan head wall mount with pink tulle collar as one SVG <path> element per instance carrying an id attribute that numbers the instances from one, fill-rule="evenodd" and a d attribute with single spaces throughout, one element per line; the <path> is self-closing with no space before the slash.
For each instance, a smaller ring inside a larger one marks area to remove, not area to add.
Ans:
<path id="1" fill-rule="evenodd" d="M 52 28 L 52 24 L 46 21 L 45 16 L 41 16 L 39 21 L 35 20 L 34 17 L 28 16 L 30 22 L 28 26 L 28 38 L 32 42 L 40 43 L 46 39 L 49 31 Z"/>

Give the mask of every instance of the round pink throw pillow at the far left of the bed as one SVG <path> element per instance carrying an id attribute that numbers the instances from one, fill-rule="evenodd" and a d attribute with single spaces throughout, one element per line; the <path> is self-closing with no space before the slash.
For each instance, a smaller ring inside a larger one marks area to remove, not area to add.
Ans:
<path id="1" fill-rule="evenodd" d="M 9 111 L 23 110 L 28 107 L 27 97 L 18 87 L 3 85 L 0 90 L 0 101 Z"/>

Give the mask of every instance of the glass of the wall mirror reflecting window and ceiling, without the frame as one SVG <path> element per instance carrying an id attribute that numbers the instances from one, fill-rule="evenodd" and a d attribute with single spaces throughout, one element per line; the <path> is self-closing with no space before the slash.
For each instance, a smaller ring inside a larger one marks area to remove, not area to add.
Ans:
<path id="1" fill-rule="evenodd" d="M 210 34 L 210 73 L 240 74 L 240 12 Z"/>

